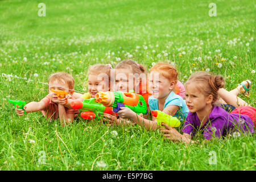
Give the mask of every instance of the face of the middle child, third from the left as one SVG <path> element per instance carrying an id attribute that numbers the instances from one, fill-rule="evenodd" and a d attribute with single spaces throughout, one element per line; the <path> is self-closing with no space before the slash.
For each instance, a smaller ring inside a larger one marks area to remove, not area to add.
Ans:
<path id="1" fill-rule="evenodd" d="M 115 69 L 115 91 L 129 92 L 135 90 L 135 86 L 139 86 L 139 78 L 134 81 L 130 69 Z"/>

